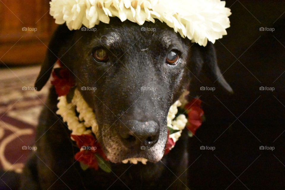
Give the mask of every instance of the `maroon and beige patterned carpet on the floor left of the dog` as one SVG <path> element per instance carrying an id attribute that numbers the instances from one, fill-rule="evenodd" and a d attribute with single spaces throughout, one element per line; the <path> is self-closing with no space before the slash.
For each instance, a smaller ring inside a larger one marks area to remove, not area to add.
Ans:
<path id="1" fill-rule="evenodd" d="M 39 66 L 0 69 L 0 167 L 21 172 L 34 147 L 49 85 L 34 91 Z M 48 82 L 50 84 L 50 82 Z"/>

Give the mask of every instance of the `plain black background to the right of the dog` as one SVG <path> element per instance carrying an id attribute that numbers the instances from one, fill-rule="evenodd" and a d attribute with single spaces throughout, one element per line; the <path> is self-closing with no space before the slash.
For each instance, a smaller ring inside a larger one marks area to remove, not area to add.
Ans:
<path id="1" fill-rule="evenodd" d="M 197 138 L 191 138 L 189 185 L 285 189 L 285 2 L 227 0 L 226 7 L 232 11 L 231 27 L 215 47 L 234 94 L 226 94 L 203 75 L 194 81 L 191 95 L 203 101 L 206 121 Z M 201 86 L 216 90 L 200 91 Z M 275 90 L 260 91 L 261 86 Z M 200 150 L 201 145 L 216 149 Z"/>

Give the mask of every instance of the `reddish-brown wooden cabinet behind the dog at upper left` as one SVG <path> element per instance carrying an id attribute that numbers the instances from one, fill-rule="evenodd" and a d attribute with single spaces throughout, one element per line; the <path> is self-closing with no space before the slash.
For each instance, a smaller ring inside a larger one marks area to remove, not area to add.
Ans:
<path id="1" fill-rule="evenodd" d="M 56 28 L 49 0 L 1 0 L 0 12 L 0 64 L 41 63 Z"/>

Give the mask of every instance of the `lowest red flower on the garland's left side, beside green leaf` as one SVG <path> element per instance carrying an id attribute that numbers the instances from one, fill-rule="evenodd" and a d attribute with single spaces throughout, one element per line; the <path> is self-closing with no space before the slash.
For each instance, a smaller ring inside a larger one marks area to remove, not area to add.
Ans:
<path id="1" fill-rule="evenodd" d="M 95 156 L 95 153 L 92 151 L 80 151 L 75 154 L 75 159 L 78 162 L 82 162 L 85 165 L 88 165 L 95 170 L 98 170 L 98 162 Z"/>

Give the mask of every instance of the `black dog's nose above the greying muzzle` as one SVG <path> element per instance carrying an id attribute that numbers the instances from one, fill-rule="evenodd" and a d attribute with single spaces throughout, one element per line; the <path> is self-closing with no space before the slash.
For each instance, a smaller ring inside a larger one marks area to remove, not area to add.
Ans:
<path id="1" fill-rule="evenodd" d="M 119 130 L 119 135 L 126 147 L 151 147 L 159 138 L 159 125 L 155 121 L 126 121 Z"/>

